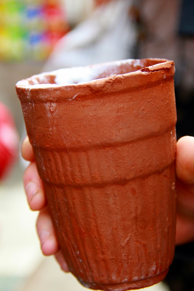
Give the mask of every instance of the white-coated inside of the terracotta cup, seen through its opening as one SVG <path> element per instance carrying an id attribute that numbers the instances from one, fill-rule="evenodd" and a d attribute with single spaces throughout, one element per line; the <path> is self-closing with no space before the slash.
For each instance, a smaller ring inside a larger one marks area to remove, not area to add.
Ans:
<path id="1" fill-rule="evenodd" d="M 167 60 L 164 59 L 129 59 L 85 67 L 58 69 L 53 72 L 34 75 L 28 79 L 18 82 L 17 85 L 39 86 L 45 84 L 48 86 L 65 86 L 85 83 L 93 80 L 107 78 L 112 75 L 123 75 L 136 72 L 145 67 L 153 66 L 166 61 Z"/>

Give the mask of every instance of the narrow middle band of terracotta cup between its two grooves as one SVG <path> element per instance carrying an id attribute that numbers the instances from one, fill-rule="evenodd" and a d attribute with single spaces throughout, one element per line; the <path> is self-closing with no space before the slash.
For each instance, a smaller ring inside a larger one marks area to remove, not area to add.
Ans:
<path id="1" fill-rule="evenodd" d="M 176 133 L 158 133 L 109 147 L 85 150 L 34 149 L 43 180 L 54 184 L 103 184 L 130 180 L 161 170 L 175 158 Z"/>

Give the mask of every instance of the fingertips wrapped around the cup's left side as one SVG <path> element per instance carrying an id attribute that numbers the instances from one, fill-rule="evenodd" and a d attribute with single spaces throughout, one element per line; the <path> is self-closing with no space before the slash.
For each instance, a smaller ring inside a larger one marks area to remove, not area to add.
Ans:
<path id="1" fill-rule="evenodd" d="M 40 239 L 42 252 L 46 256 L 55 255 L 61 269 L 68 272 L 69 269 L 62 256 L 62 252 L 55 236 L 53 224 L 48 212 L 43 182 L 37 172 L 32 146 L 29 143 L 28 137 L 26 137 L 22 142 L 21 153 L 25 160 L 30 161 L 29 166 L 24 172 L 23 181 L 29 207 L 32 210 L 40 211 L 36 222 L 36 229 Z"/>

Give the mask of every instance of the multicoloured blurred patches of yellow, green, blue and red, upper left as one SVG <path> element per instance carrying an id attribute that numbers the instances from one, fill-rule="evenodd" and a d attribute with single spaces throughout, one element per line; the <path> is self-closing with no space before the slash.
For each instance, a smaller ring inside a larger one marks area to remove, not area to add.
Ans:
<path id="1" fill-rule="evenodd" d="M 60 0 L 0 0 L 0 60 L 42 61 L 69 30 Z"/>

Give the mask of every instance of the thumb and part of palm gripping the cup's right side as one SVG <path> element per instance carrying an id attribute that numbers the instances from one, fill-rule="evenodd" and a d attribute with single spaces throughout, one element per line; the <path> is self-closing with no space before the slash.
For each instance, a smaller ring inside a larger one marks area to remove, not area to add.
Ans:
<path id="1" fill-rule="evenodd" d="M 181 137 L 176 146 L 176 244 L 194 241 L 194 137 Z"/>

